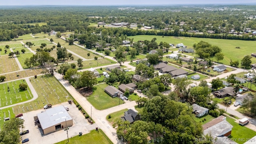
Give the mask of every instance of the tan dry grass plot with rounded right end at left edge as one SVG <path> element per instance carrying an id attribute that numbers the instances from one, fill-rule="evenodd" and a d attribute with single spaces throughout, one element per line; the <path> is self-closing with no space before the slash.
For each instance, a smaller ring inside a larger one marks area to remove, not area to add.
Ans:
<path id="1" fill-rule="evenodd" d="M 7 55 L 0 56 L 0 74 L 16 70 L 19 70 L 19 67 L 14 58 L 9 58 Z"/>

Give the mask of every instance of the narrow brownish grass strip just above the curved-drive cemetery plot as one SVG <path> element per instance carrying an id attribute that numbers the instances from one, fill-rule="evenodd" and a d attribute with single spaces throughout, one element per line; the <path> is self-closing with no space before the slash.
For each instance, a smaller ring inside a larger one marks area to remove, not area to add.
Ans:
<path id="1" fill-rule="evenodd" d="M 20 72 L 12 72 L 12 73 L 8 73 L 8 74 L 3 74 L 3 75 L 0 75 L 0 76 L 5 76 L 6 77 L 6 81 L 9 81 L 9 80 L 16 80 L 16 79 L 19 79 L 19 78 L 26 78 L 26 77 L 29 77 L 29 76 L 34 76 L 34 75 L 38 75 L 38 74 L 41 74 L 42 72 L 42 69 L 27 69 L 27 70 L 22 70 Z M 19 76 L 17 76 L 19 75 Z"/>

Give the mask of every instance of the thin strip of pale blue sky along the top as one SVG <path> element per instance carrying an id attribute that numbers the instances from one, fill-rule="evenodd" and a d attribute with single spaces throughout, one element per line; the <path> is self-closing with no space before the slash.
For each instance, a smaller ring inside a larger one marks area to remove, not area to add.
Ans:
<path id="1" fill-rule="evenodd" d="M 256 0 L 0 0 L 0 5 L 237 4 Z"/>

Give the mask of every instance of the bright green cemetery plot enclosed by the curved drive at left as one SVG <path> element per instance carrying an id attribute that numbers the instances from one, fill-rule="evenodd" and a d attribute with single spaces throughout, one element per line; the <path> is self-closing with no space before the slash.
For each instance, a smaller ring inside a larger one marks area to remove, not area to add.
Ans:
<path id="1" fill-rule="evenodd" d="M 20 90 L 20 84 L 28 85 L 25 80 L 17 80 L 0 84 L 0 108 L 12 104 L 17 104 L 19 102 L 24 102 L 33 98 L 30 88 L 27 88 L 26 90 Z"/>

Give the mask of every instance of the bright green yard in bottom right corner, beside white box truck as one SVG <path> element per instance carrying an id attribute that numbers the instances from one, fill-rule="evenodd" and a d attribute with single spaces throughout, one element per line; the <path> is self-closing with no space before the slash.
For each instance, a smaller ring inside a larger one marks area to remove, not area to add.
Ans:
<path id="1" fill-rule="evenodd" d="M 256 135 L 255 131 L 245 126 L 240 126 L 233 118 L 227 116 L 226 120 L 233 126 L 231 136 L 229 136 L 229 138 L 233 138 L 233 140 L 238 144 L 243 144 L 245 142 L 241 140 L 239 141 L 238 138 L 249 139 Z"/>

